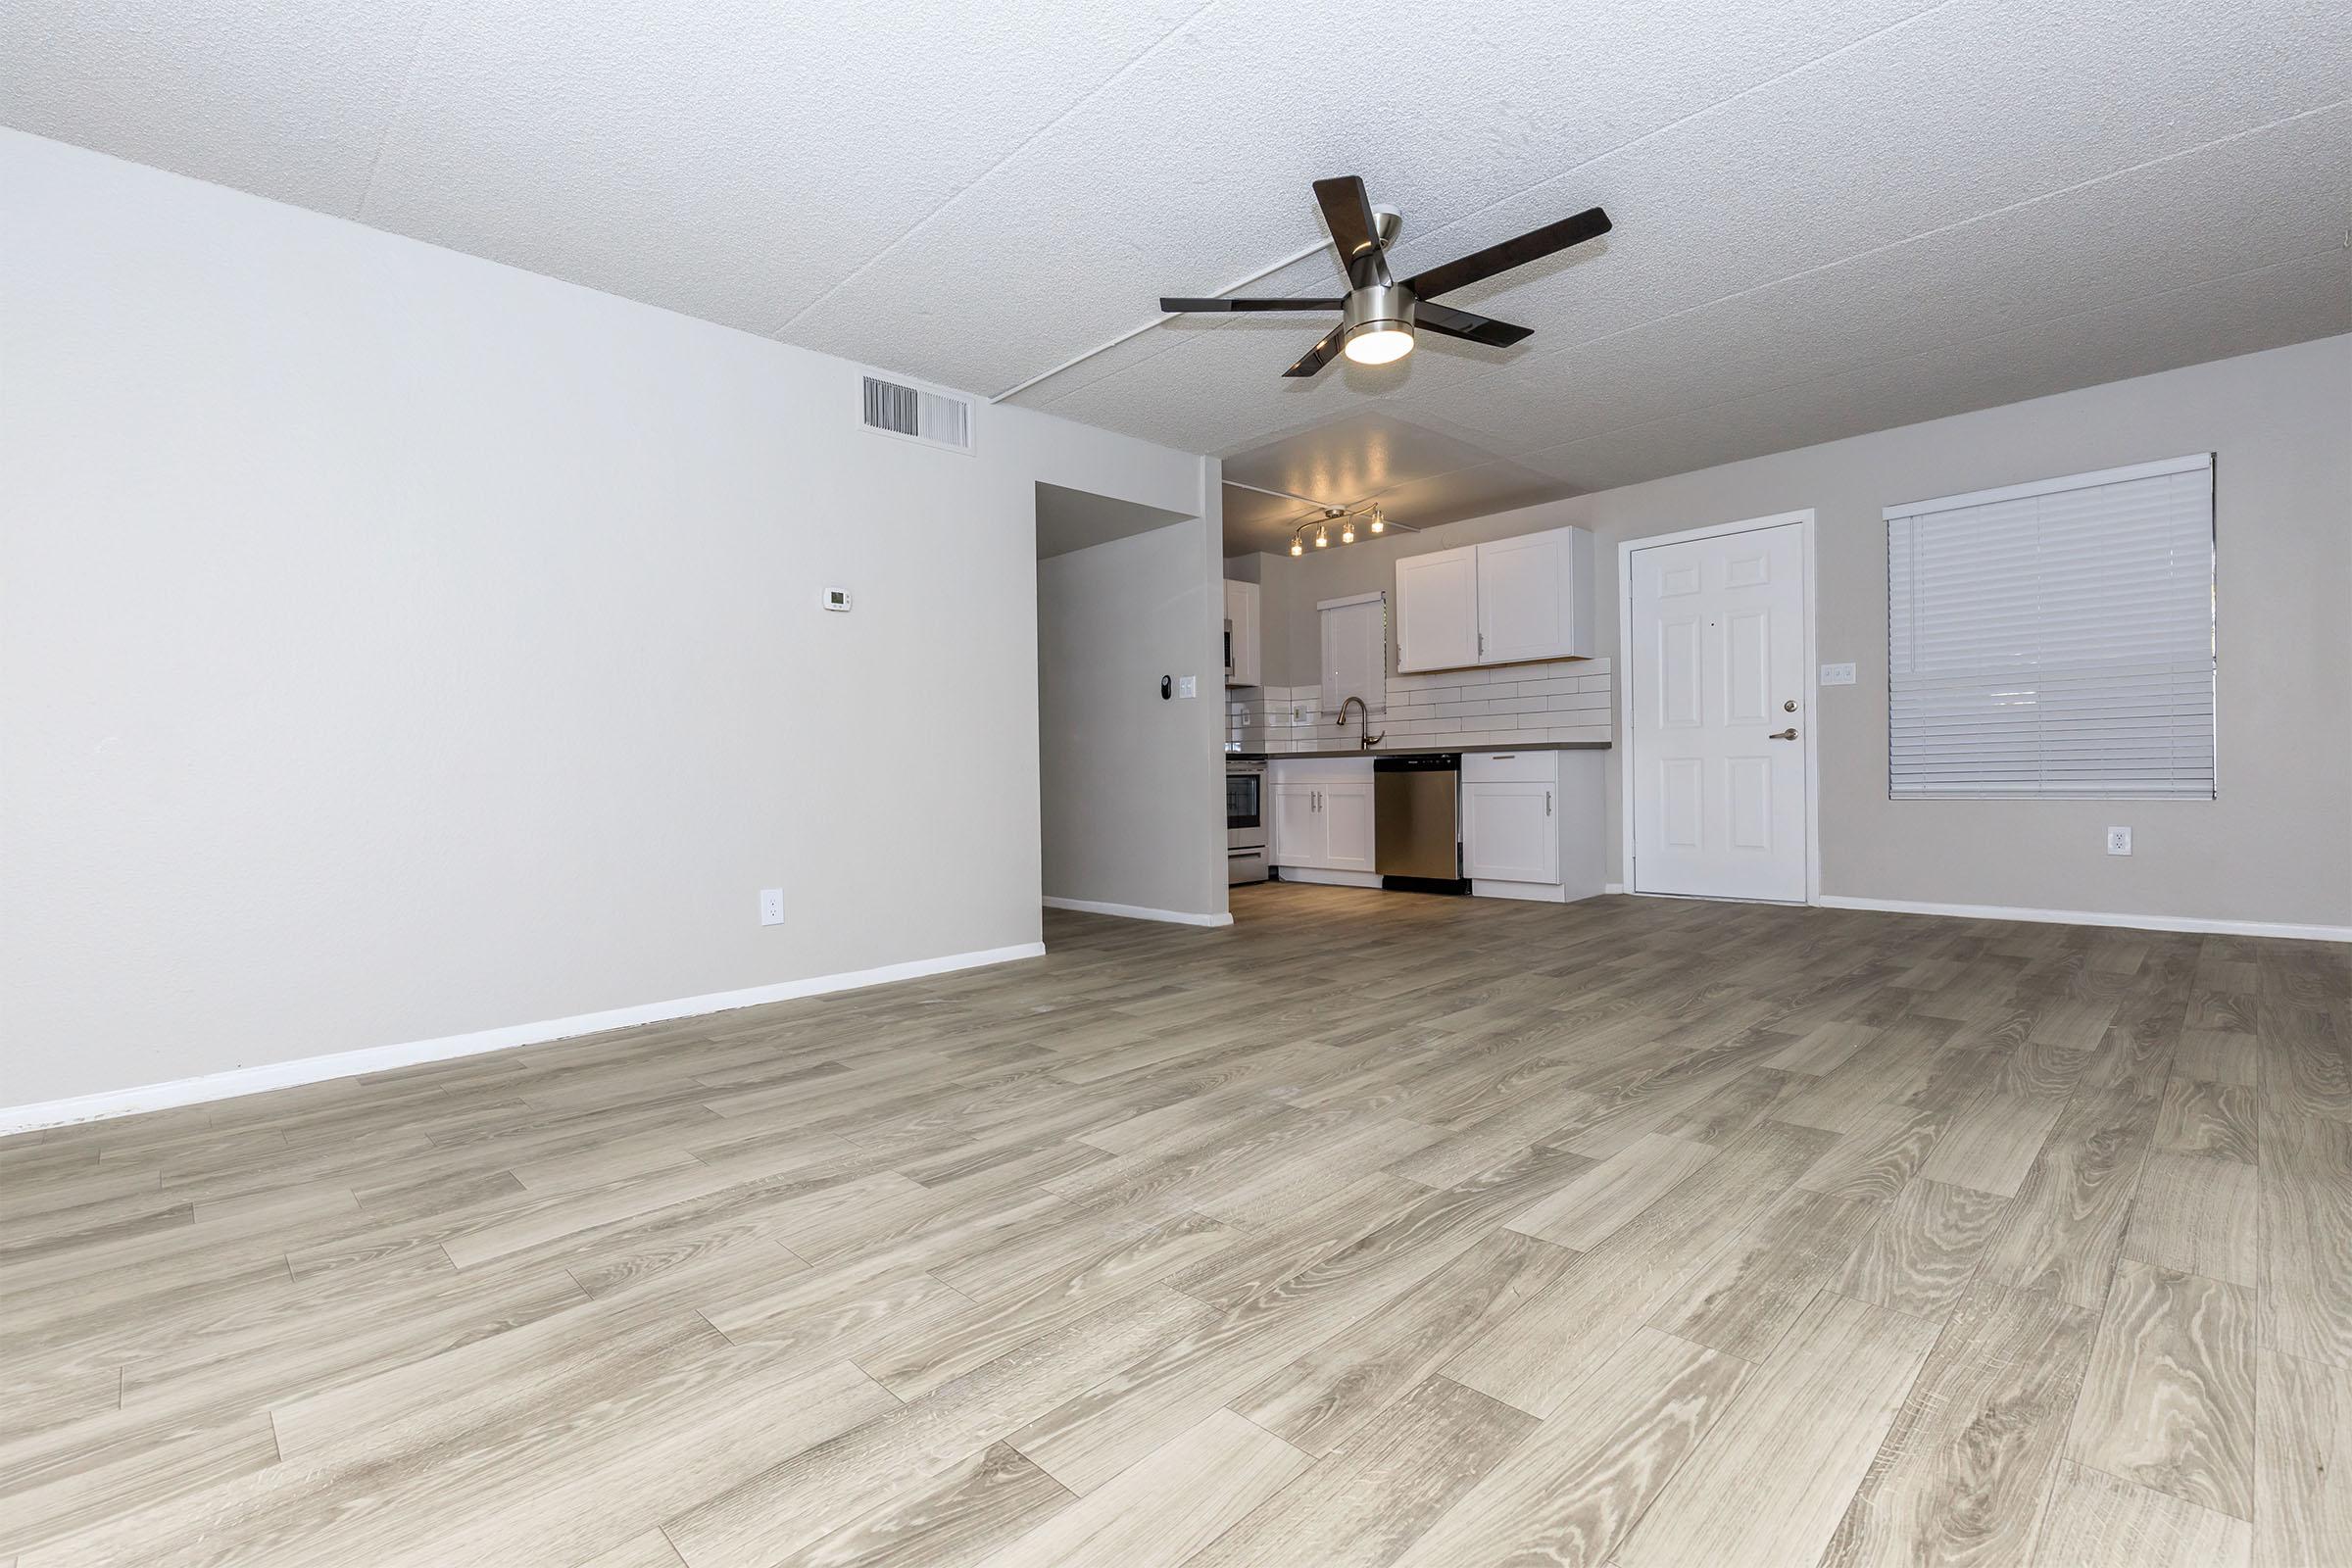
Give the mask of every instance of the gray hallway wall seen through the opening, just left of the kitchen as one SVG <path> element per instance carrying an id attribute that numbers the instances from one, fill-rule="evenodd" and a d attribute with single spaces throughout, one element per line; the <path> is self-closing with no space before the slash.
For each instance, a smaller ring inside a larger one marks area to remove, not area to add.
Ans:
<path id="1" fill-rule="evenodd" d="M 1037 562 L 1051 898 L 1225 914 L 1221 531 L 1190 520 Z M 1162 701 L 1162 675 L 1197 696 Z"/>

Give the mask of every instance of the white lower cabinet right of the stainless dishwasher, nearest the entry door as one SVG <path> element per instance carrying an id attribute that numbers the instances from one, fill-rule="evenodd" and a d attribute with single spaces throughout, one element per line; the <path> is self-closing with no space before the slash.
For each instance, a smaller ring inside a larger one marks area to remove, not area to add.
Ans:
<path id="1" fill-rule="evenodd" d="M 1569 903 L 1602 891 L 1602 752 L 1463 757 L 1463 865 L 1489 898 Z"/>

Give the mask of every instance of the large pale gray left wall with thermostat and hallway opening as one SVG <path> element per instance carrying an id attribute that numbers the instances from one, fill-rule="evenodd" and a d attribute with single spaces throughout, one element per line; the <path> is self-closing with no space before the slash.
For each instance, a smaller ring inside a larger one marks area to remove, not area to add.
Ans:
<path id="1" fill-rule="evenodd" d="M 842 360 L 35 136 L 0 183 L 0 1107 L 1037 940 L 1035 484 L 1214 538 L 1216 463 L 868 435 Z"/>

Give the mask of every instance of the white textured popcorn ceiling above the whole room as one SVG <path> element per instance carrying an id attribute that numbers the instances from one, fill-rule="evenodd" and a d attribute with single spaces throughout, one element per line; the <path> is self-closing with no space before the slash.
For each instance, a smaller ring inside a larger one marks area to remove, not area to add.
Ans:
<path id="1" fill-rule="evenodd" d="M 1519 348 L 1282 381 L 1310 317 L 1192 317 L 1018 395 L 1404 522 L 2352 329 L 2343 0 L 1406 2 L 1362 75 L 1359 14 L 12 0 L 0 120 L 981 395 L 1310 244 L 1324 174 L 1404 270 L 1606 205 L 1454 296 Z"/>

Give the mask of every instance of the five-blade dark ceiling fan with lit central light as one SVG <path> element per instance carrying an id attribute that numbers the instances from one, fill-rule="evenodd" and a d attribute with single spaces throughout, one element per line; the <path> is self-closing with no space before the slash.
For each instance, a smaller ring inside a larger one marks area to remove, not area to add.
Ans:
<path id="1" fill-rule="evenodd" d="M 1348 268 L 1348 294 L 1343 299 L 1162 299 L 1160 308 L 1183 310 L 1338 310 L 1338 327 L 1327 331 L 1298 364 L 1284 376 L 1312 376 L 1331 355 L 1345 353 L 1357 364 L 1388 364 L 1414 353 L 1414 331 L 1437 331 L 1449 339 L 1468 339 L 1494 348 L 1510 348 L 1534 334 L 1534 327 L 1512 327 L 1486 315 L 1439 306 L 1437 296 L 1465 289 L 1472 282 L 1508 273 L 1564 252 L 1571 244 L 1597 240 L 1609 233 L 1609 214 L 1588 207 L 1573 219 L 1559 219 L 1543 228 L 1531 228 L 1517 240 L 1489 244 L 1428 273 L 1395 280 L 1388 273 L 1388 247 L 1397 237 L 1397 214 L 1371 209 L 1364 181 L 1355 174 L 1315 181 L 1315 200 L 1322 205 L 1324 226 L 1338 244 L 1341 263 Z"/>

